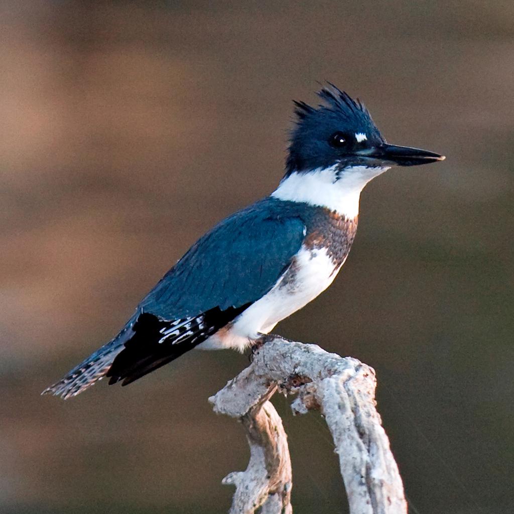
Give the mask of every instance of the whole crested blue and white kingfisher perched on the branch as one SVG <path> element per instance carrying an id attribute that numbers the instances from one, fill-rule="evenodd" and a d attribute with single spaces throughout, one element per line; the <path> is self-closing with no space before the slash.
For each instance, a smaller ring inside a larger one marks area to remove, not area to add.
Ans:
<path id="1" fill-rule="evenodd" d="M 364 186 L 393 166 L 442 155 L 386 143 L 368 109 L 333 84 L 295 101 L 286 172 L 269 196 L 201 237 L 121 332 L 43 394 L 122 386 L 193 348 L 244 351 L 334 280 L 354 241 Z"/>

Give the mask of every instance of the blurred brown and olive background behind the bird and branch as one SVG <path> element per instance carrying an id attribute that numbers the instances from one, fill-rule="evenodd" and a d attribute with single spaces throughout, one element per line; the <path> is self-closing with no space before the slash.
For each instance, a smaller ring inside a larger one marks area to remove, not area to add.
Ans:
<path id="1" fill-rule="evenodd" d="M 1 512 L 228 510 L 248 451 L 207 398 L 247 356 L 39 394 L 276 187 L 323 80 L 447 160 L 365 189 L 335 284 L 277 332 L 374 366 L 411 512 L 514 509 L 512 2 L 5 0 L 0 69 Z M 274 401 L 295 512 L 346 512 L 322 419 Z"/>

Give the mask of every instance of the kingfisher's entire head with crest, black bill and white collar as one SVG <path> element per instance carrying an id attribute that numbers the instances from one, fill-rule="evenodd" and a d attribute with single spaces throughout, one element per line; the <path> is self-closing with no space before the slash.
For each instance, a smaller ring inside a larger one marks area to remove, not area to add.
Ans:
<path id="1" fill-rule="evenodd" d="M 393 166 L 443 160 L 442 155 L 388 144 L 368 109 L 336 86 L 319 91 L 321 105 L 295 102 L 286 174 L 272 193 L 281 200 L 325 207 L 346 218 L 359 212 L 366 183 Z"/>

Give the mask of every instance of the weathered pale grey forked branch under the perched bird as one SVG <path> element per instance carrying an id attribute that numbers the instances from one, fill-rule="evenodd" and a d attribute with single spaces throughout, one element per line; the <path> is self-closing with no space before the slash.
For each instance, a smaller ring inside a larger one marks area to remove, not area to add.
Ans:
<path id="1" fill-rule="evenodd" d="M 282 420 L 269 402 L 277 390 L 297 394 L 296 414 L 319 409 L 339 455 L 351 514 L 406 514 L 398 466 L 375 406 L 375 372 L 357 359 L 315 344 L 266 338 L 252 363 L 209 398 L 215 412 L 241 419 L 250 445 L 230 514 L 291 514 L 291 462 Z"/>

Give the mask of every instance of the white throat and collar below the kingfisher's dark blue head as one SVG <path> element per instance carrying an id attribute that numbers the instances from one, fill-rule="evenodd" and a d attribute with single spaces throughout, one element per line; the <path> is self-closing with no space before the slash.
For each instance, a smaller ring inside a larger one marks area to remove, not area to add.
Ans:
<path id="1" fill-rule="evenodd" d="M 308 172 L 295 171 L 280 182 L 271 196 L 326 207 L 346 218 L 354 218 L 359 214 L 360 192 L 364 186 L 387 170 L 389 167 L 354 166 L 346 168 L 339 178 L 337 164 Z"/>

